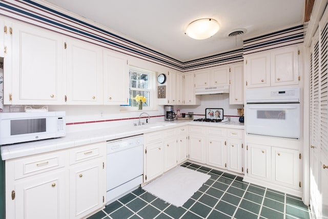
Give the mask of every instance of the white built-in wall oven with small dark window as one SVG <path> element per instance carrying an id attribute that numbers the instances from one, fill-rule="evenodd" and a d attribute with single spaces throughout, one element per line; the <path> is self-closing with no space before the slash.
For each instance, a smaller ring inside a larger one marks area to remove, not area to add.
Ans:
<path id="1" fill-rule="evenodd" d="M 300 138 L 300 89 L 247 90 L 245 129 L 250 135 Z"/>

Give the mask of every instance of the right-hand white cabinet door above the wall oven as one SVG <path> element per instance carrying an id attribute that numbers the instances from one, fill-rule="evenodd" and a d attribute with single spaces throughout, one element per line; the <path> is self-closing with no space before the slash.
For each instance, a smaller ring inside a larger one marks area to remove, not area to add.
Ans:
<path id="1" fill-rule="evenodd" d="M 298 84 L 298 48 L 271 52 L 271 86 Z"/>

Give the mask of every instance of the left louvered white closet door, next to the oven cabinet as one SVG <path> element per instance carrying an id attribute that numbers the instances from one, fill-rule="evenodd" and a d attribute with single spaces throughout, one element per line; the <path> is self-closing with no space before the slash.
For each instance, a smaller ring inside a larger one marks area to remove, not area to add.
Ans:
<path id="1" fill-rule="evenodd" d="M 319 218 L 319 35 L 312 40 L 310 54 L 310 205 Z"/>

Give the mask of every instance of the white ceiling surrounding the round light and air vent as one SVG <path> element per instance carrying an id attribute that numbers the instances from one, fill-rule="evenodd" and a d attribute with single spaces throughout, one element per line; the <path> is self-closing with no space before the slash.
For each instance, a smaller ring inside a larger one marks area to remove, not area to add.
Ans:
<path id="1" fill-rule="evenodd" d="M 242 39 L 302 24 L 305 0 L 45 0 L 181 62 L 242 47 Z M 188 37 L 199 18 L 220 30 L 208 39 Z M 236 29 L 240 36 L 229 37 Z"/>

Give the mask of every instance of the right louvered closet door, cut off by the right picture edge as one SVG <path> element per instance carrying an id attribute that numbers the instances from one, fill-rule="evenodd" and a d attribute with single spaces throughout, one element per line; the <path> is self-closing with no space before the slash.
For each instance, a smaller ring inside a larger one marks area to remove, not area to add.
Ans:
<path id="1" fill-rule="evenodd" d="M 322 197 L 319 210 L 321 218 L 328 217 L 328 10 L 325 10 L 319 23 L 319 109 L 320 109 L 320 183 Z"/>

